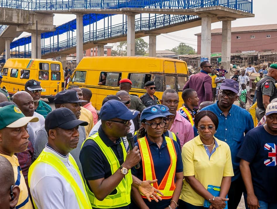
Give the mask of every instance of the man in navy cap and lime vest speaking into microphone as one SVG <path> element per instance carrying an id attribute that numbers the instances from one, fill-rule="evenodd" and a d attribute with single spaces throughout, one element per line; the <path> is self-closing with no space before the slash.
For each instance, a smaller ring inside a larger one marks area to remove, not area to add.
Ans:
<path id="1" fill-rule="evenodd" d="M 150 184 L 157 180 L 141 181 L 130 168 L 140 161 L 140 150 L 135 146 L 128 154 L 121 137 L 130 130 L 130 120 L 138 111 L 129 110 L 122 102 L 107 101 L 101 108 L 98 132 L 82 144 L 80 162 L 85 177 L 87 194 L 92 208 L 129 209 L 131 187 L 155 201 L 162 194 Z"/>

